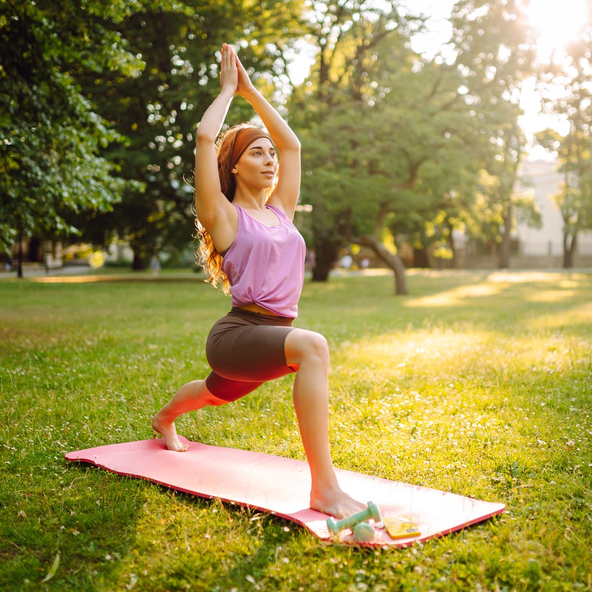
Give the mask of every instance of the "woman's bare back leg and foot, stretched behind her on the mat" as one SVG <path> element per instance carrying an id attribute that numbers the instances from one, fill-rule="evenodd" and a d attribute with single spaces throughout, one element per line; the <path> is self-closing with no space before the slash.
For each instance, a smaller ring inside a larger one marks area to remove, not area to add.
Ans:
<path id="1" fill-rule="evenodd" d="M 179 440 L 175 419 L 188 411 L 195 411 L 207 405 L 218 406 L 229 402 L 214 397 L 208 391 L 205 380 L 188 382 L 179 388 L 173 398 L 153 417 L 152 429 L 162 434 L 166 448 L 175 452 L 185 452 L 189 446 Z"/>

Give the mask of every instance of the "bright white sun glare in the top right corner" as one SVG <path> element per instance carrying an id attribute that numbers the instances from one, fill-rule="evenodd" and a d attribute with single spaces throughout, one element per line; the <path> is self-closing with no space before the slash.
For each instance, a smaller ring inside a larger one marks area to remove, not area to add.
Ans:
<path id="1" fill-rule="evenodd" d="M 538 31 L 537 49 L 541 57 L 548 57 L 577 39 L 591 16 L 589 0 L 531 0 L 527 14 Z"/>

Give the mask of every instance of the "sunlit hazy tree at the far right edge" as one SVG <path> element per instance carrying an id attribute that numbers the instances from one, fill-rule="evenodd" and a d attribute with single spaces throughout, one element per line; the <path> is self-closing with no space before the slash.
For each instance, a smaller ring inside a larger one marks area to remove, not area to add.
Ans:
<path id="1" fill-rule="evenodd" d="M 538 142 L 555 152 L 563 183 L 555 203 L 563 219 L 563 266 L 571 268 L 578 234 L 592 228 L 592 29 L 567 47 L 564 59 L 552 61 L 542 72 L 546 83 L 545 110 L 567 123 L 562 136 L 548 129 L 537 134 Z M 558 89 L 562 89 L 558 95 Z"/>

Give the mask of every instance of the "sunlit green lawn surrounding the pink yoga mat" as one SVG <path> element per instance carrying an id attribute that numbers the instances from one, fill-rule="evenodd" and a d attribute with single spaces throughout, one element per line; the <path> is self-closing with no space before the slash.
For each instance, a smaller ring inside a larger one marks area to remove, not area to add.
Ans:
<path id="1" fill-rule="evenodd" d="M 410 274 L 408 297 L 388 276 L 305 286 L 297 326 L 332 349 L 336 466 L 507 506 L 390 550 L 64 460 L 152 436 L 207 373 L 229 300 L 168 280 L 0 282 L 3 591 L 592 590 L 592 275 Z M 292 380 L 179 432 L 303 459 Z"/>

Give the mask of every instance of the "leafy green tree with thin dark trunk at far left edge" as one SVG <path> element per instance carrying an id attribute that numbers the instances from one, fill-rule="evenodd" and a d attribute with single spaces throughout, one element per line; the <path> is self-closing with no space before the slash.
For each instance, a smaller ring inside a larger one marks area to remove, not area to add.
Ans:
<path id="1" fill-rule="evenodd" d="M 126 183 L 98 157 L 99 147 L 120 136 L 83 97 L 69 67 L 94 72 L 117 68 L 139 73 L 142 62 L 126 50 L 117 31 L 137 8 L 117 0 L 84 5 L 2 2 L 0 40 L 0 246 L 34 232 L 75 233 L 63 211 L 109 210 Z M 22 276 L 19 249 L 19 276 Z"/>

